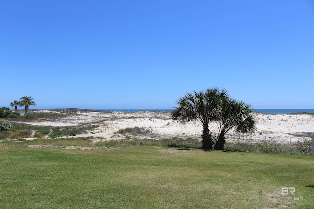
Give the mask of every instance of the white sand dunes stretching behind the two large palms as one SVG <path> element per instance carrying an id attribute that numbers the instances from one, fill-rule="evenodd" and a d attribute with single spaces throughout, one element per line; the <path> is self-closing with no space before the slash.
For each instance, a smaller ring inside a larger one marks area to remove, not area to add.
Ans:
<path id="1" fill-rule="evenodd" d="M 62 113 L 60 113 L 62 114 Z M 314 115 L 311 114 L 262 114 L 254 113 L 257 120 L 257 131 L 252 135 L 243 135 L 230 130 L 227 141 L 264 141 L 271 140 L 280 143 L 290 143 L 299 140 L 310 140 L 314 137 Z M 202 126 L 198 122 L 181 124 L 171 120 L 170 112 L 91 112 L 81 114 L 66 114 L 58 121 L 32 121 L 32 125 L 63 127 L 92 124 L 99 127 L 88 130 L 87 134 L 75 137 L 90 137 L 92 140 L 121 140 L 127 135 L 117 134 L 125 128 L 147 128 L 149 136 L 140 139 L 186 139 L 188 137 L 201 139 Z M 215 133 L 218 128 L 211 123 L 209 129 Z M 72 136 L 71 136 L 72 137 Z M 130 136 L 129 136 L 129 139 Z"/>

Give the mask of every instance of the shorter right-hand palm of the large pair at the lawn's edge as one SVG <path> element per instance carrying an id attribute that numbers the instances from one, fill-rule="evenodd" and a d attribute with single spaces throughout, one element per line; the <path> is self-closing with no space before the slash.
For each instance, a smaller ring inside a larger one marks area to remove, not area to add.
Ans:
<path id="1" fill-rule="evenodd" d="M 225 134 L 232 128 L 235 128 L 236 132 L 254 133 L 256 120 L 252 113 L 253 109 L 249 104 L 224 98 L 221 102 L 220 118 L 216 121 L 219 133 L 216 137 L 215 149 L 222 150 L 224 148 Z"/>

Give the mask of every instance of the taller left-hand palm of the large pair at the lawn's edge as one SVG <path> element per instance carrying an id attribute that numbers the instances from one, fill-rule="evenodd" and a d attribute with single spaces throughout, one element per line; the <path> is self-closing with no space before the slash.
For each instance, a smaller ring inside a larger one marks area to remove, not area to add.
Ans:
<path id="1" fill-rule="evenodd" d="M 220 103 L 229 98 L 226 90 L 208 88 L 207 90 L 187 93 L 177 100 L 178 107 L 171 113 L 172 119 L 180 122 L 198 121 L 203 126 L 202 145 L 204 150 L 213 149 L 213 135 L 209 124 L 220 118 Z"/>

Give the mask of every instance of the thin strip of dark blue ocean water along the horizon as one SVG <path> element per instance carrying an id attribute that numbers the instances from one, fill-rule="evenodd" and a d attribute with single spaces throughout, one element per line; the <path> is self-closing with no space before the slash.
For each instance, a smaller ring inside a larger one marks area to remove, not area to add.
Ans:
<path id="1" fill-rule="evenodd" d="M 121 111 L 121 112 L 137 112 L 137 111 L 172 111 L 173 109 L 103 109 L 104 111 Z M 314 113 L 314 109 L 255 109 L 258 113 L 267 114 L 290 114 L 290 113 Z"/>

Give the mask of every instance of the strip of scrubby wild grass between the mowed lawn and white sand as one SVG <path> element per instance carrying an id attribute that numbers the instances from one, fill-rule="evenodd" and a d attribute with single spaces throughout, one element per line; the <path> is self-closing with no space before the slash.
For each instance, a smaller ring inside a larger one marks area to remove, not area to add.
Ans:
<path id="1" fill-rule="evenodd" d="M 14 128 L 13 128 L 14 129 Z M 53 131 L 53 130 L 51 130 Z M 128 146 L 159 146 L 159 147 L 174 147 L 174 148 L 186 148 L 186 149 L 201 149 L 202 143 L 196 138 L 186 139 L 142 139 L 128 135 L 128 138 L 122 140 L 102 140 L 94 143 L 88 138 L 60 138 L 64 136 L 64 133 L 60 131 L 54 131 L 49 135 L 49 139 L 46 139 L 48 135 L 43 134 L 44 131 L 31 130 L 16 130 L 0 132 L 0 139 L 6 140 L 6 143 L 14 143 L 17 139 L 25 139 L 33 137 L 40 140 L 25 141 L 26 144 L 38 144 L 38 145 L 75 145 L 75 146 L 88 146 L 88 147 L 128 147 Z M 33 134 L 33 136 L 32 136 Z M 69 136 L 69 135 L 67 135 Z M 105 139 L 103 137 L 97 137 L 97 139 Z M 84 141 L 83 144 L 81 143 Z M 224 148 L 226 152 L 248 152 L 248 153 L 271 153 L 271 154 L 288 154 L 288 155 L 311 155 L 312 145 L 310 140 L 300 140 L 291 144 L 278 143 L 275 140 L 267 140 L 261 142 L 227 142 Z"/>

